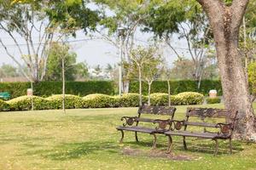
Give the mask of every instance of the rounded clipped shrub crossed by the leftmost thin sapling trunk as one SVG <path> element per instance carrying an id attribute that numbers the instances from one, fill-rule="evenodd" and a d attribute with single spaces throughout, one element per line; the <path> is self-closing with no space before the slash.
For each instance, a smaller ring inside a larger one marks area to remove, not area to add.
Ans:
<path id="1" fill-rule="evenodd" d="M 34 110 L 48 110 L 51 109 L 50 103 L 47 99 L 32 96 Z M 20 96 L 15 99 L 10 99 L 7 103 L 11 111 L 29 111 L 32 109 L 32 99 L 29 96 Z"/>

